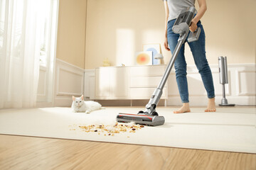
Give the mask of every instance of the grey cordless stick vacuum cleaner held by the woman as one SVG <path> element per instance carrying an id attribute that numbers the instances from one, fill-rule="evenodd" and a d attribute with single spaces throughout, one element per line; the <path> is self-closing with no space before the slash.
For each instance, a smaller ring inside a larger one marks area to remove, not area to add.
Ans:
<path id="1" fill-rule="evenodd" d="M 128 114 L 128 113 L 119 113 L 117 115 L 117 122 L 120 122 L 120 123 L 134 122 L 141 125 L 151 125 L 151 126 L 164 125 L 164 116 L 158 115 L 158 113 L 156 112 L 156 106 L 159 103 L 159 100 L 163 93 L 164 84 L 166 84 L 166 81 L 171 72 L 171 68 L 174 66 L 174 62 L 176 60 L 176 57 L 178 56 L 178 52 L 181 50 L 181 46 L 186 41 L 186 38 L 188 37 L 188 42 L 198 40 L 198 37 L 201 32 L 200 28 L 198 28 L 194 33 L 189 33 L 189 26 L 191 25 L 191 21 L 195 13 L 196 13 L 196 8 L 192 6 L 186 10 L 181 11 L 180 15 L 176 19 L 176 22 L 174 23 L 172 30 L 174 31 L 174 33 L 177 33 L 180 35 L 178 38 L 178 43 L 172 54 L 171 60 L 168 66 L 166 67 L 166 71 L 164 72 L 164 76 L 162 77 L 159 83 L 159 86 L 157 86 L 154 93 L 152 94 L 149 100 L 149 103 L 146 104 L 146 110 L 139 111 L 137 115 Z"/>

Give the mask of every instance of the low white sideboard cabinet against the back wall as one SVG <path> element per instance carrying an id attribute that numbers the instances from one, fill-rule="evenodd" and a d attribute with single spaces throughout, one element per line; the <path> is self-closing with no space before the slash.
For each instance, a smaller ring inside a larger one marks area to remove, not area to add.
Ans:
<path id="1" fill-rule="evenodd" d="M 98 67 L 95 70 L 95 99 L 149 99 L 166 65 Z M 167 83 L 161 99 L 168 98 Z"/>

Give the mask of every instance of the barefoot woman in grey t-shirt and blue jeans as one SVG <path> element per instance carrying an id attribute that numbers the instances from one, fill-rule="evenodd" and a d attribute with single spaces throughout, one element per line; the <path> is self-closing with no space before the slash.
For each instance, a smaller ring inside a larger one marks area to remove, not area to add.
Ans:
<path id="1" fill-rule="evenodd" d="M 203 17 L 203 14 L 206 12 L 206 0 L 198 0 L 199 10 L 196 13 L 196 16 L 191 21 L 191 26 L 189 29 L 191 32 L 194 32 L 196 28 L 201 28 L 201 34 L 197 41 L 188 42 L 191 52 L 193 54 L 193 59 L 196 63 L 201 78 L 203 80 L 203 85 L 207 91 L 208 96 L 208 107 L 206 112 L 215 112 L 215 92 L 213 86 L 213 76 L 206 60 L 206 36 L 201 25 L 200 19 Z M 175 34 L 172 31 L 172 27 L 178 18 L 178 15 L 183 9 L 186 9 L 190 6 L 195 6 L 195 0 L 164 0 L 164 8 L 166 11 L 166 25 L 165 25 L 165 40 L 164 47 L 166 50 L 173 53 L 178 42 L 178 34 Z M 186 113 L 190 112 L 189 100 L 188 100 L 188 82 L 186 79 L 186 60 L 184 56 L 184 44 L 181 47 L 176 61 L 174 63 L 175 72 L 176 72 L 176 81 L 178 84 L 178 91 L 181 96 L 181 102 L 183 106 L 174 111 L 174 113 Z"/>

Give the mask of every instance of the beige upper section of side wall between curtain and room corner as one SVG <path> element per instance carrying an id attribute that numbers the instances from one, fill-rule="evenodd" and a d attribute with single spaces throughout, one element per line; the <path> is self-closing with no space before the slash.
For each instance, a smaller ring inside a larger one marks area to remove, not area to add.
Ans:
<path id="1" fill-rule="evenodd" d="M 59 0 L 56 57 L 84 69 L 87 0 Z"/>

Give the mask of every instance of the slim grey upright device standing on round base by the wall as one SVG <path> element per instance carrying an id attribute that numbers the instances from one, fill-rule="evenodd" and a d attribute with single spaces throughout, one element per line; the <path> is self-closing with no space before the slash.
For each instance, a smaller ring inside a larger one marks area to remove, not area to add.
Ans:
<path id="1" fill-rule="evenodd" d="M 223 85 L 223 98 L 219 106 L 235 106 L 235 104 L 229 104 L 227 98 L 225 98 L 225 84 L 228 84 L 228 66 L 227 57 L 218 57 L 220 84 Z"/>

